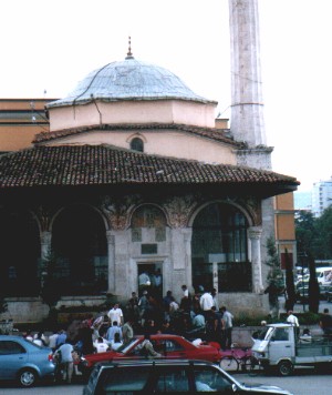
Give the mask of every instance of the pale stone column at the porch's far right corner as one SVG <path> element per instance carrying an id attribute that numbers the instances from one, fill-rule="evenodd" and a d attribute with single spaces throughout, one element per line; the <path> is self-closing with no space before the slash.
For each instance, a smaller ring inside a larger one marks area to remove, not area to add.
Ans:
<path id="1" fill-rule="evenodd" d="M 249 227 L 248 235 L 251 246 L 251 266 L 252 266 L 252 290 L 255 293 L 260 293 L 263 290 L 261 276 L 261 255 L 260 255 L 260 237 L 262 230 L 258 226 Z"/>

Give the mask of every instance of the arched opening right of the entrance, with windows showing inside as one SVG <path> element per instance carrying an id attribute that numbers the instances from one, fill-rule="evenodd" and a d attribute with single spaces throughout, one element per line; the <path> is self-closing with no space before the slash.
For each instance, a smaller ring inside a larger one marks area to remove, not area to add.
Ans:
<path id="1" fill-rule="evenodd" d="M 219 292 L 251 290 L 247 230 L 246 216 L 230 204 L 209 204 L 197 214 L 191 239 L 195 287 L 212 286 L 212 264 L 216 263 Z"/>

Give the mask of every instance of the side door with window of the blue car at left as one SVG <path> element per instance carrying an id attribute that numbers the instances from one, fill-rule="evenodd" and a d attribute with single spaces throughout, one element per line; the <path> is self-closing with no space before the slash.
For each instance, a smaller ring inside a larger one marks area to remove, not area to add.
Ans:
<path id="1" fill-rule="evenodd" d="M 28 361 L 27 350 L 17 341 L 0 341 L 0 378 L 15 378 L 18 371 Z"/>

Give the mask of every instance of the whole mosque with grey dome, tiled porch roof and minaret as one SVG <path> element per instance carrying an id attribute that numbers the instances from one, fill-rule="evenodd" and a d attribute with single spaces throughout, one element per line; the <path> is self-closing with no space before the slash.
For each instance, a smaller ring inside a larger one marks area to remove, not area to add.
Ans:
<path id="1" fill-rule="evenodd" d="M 215 287 L 236 313 L 267 312 L 276 200 L 299 182 L 271 170 L 259 48 L 248 52 L 238 37 L 247 29 L 258 42 L 257 4 L 245 3 L 231 13 L 232 69 L 251 82 L 234 72 L 230 128 L 216 119 L 217 102 L 129 45 L 124 60 L 48 101 L 48 129 L 29 146 L 0 155 L 0 288 L 15 321 L 46 315 L 48 262 L 59 305 L 123 302 L 142 285 L 179 297 L 186 284 Z M 279 239 L 294 255 L 294 237 Z"/>

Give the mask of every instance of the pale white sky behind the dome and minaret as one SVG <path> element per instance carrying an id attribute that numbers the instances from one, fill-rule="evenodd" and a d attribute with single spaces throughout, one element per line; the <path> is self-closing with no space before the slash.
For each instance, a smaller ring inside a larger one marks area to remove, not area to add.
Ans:
<path id="1" fill-rule="evenodd" d="M 332 1 L 258 2 L 272 169 L 310 191 L 332 176 Z M 228 0 L 2 0 L 0 37 L 1 99 L 63 98 L 122 61 L 131 37 L 136 59 L 174 72 L 230 118 Z"/>

